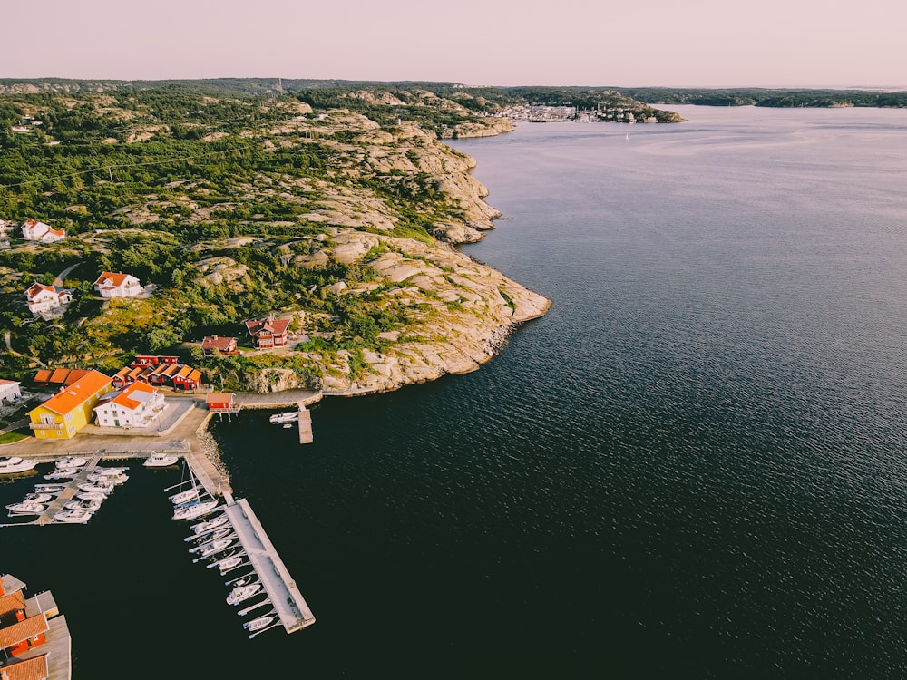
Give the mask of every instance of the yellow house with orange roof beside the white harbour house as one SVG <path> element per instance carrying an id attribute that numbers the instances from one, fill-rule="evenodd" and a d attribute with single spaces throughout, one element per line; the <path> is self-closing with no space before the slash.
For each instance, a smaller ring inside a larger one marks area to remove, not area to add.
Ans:
<path id="1" fill-rule="evenodd" d="M 69 439 L 91 422 L 94 404 L 112 389 L 110 378 L 89 371 L 29 411 L 28 426 L 38 439 Z"/>

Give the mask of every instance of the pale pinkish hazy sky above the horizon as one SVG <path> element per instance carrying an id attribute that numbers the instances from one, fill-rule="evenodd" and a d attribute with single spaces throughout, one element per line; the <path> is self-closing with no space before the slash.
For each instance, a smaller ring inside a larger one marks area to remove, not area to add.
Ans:
<path id="1" fill-rule="evenodd" d="M 0 78 L 907 89 L 907 2 L 5 2 Z"/>

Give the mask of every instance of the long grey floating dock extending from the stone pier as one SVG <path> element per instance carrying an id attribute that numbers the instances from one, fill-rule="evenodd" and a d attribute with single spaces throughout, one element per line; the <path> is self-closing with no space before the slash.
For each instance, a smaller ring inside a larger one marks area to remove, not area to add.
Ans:
<path id="1" fill-rule="evenodd" d="M 315 623 L 315 616 L 290 576 L 277 549 L 268 539 L 255 513 L 245 499 L 234 501 L 229 491 L 224 493 L 227 500 L 225 512 L 230 524 L 245 549 L 249 563 L 258 575 L 261 585 L 268 594 L 270 604 L 277 611 L 280 623 L 288 633 L 302 630 Z"/>

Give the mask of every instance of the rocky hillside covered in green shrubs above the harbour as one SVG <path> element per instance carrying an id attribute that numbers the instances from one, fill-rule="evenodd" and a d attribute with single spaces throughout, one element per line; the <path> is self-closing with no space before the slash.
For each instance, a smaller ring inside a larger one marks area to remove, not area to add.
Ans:
<path id="1" fill-rule="evenodd" d="M 548 301 L 450 246 L 496 213 L 438 134 L 509 129 L 496 104 L 458 97 L 181 84 L 0 96 L 0 219 L 15 227 L 0 249 L 4 373 L 177 353 L 218 386 L 349 391 L 473 369 Z M 26 241 L 26 219 L 66 236 Z M 138 277 L 143 295 L 102 300 L 102 271 Z M 25 289 L 61 275 L 70 305 L 33 316 Z M 291 320 L 294 342 L 253 351 L 241 324 L 268 315 Z M 213 334 L 247 347 L 202 357 Z"/>

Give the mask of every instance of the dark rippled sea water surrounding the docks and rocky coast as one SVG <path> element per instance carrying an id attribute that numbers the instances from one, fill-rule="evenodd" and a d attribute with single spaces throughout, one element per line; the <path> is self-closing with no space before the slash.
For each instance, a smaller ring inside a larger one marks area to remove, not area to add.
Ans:
<path id="1" fill-rule="evenodd" d="M 907 112 L 682 115 L 457 141 L 549 314 L 306 447 L 215 428 L 314 627 L 246 640 L 149 471 L 0 530 L 77 676 L 907 674 Z"/>

